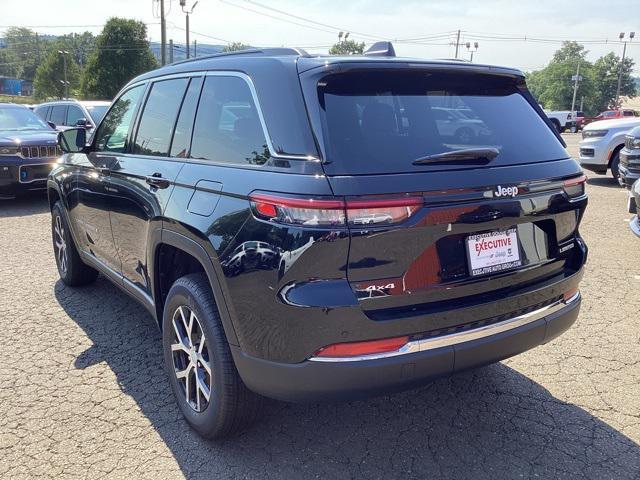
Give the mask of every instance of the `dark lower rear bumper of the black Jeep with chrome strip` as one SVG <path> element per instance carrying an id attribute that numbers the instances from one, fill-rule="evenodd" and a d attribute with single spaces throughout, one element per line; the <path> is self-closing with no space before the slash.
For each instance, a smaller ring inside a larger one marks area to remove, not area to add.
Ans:
<path id="1" fill-rule="evenodd" d="M 469 331 L 465 338 L 439 337 L 439 342 L 425 346 L 423 341 L 415 351 L 383 358 L 311 359 L 287 364 L 250 357 L 239 347 L 231 348 L 240 376 L 256 393 L 294 402 L 348 400 L 419 386 L 549 342 L 576 321 L 580 302 L 577 294 L 567 303 L 550 305 L 526 318 L 489 325 L 482 335 Z"/>

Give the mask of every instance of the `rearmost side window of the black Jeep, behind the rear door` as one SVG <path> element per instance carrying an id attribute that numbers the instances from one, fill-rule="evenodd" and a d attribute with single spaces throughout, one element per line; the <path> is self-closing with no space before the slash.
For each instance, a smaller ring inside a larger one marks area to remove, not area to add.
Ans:
<path id="1" fill-rule="evenodd" d="M 193 129 L 191 157 L 245 165 L 262 165 L 269 159 L 258 110 L 242 78 L 206 78 Z"/>

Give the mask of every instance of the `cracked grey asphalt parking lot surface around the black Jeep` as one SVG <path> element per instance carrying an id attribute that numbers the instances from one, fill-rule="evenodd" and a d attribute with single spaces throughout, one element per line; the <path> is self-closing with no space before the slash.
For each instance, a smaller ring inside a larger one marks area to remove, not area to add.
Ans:
<path id="1" fill-rule="evenodd" d="M 576 156 L 578 135 L 565 135 Z M 554 342 L 401 394 L 269 401 L 199 438 L 143 307 L 58 281 L 46 200 L 0 203 L 0 478 L 640 478 L 640 239 L 626 193 L 589 180 L 576 325 Z"/>

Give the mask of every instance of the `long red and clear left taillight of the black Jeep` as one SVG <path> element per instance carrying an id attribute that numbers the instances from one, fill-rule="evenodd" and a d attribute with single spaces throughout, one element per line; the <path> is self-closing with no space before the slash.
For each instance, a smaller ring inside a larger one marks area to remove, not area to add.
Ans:
<path id="1" fill-rule="evenodd" d="M 258 218 L 320 227 L 391 225 L 405 221 L 423 205 L 421 196 L 409 195 L 344 201 L 255 193 L 249 199 Z"/>

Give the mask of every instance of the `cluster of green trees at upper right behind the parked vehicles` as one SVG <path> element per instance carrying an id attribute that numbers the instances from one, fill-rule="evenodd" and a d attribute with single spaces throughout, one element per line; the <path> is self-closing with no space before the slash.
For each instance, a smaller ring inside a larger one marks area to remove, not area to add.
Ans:
<path id="1" fill-rule="evenodd" d="M 527 85 L 534 97 L 548 110 L 569 110 L 573 97 L 573 81 L 580 64 L 582 81 L 578 85 L 576 109 L 584 97 L 583 109 L 589 115 L 613 106 L 618 82 L 618 64 L 620 58 L 613 53 L 596 60 L 595 64 L 586 60 L 587 51 L 576 42 L 564 42 L 542 70 L 527 75 Z M 631 72 L 633 60 L 625 59 L 621 95 L 634 96 L 635 87 Z"/>

